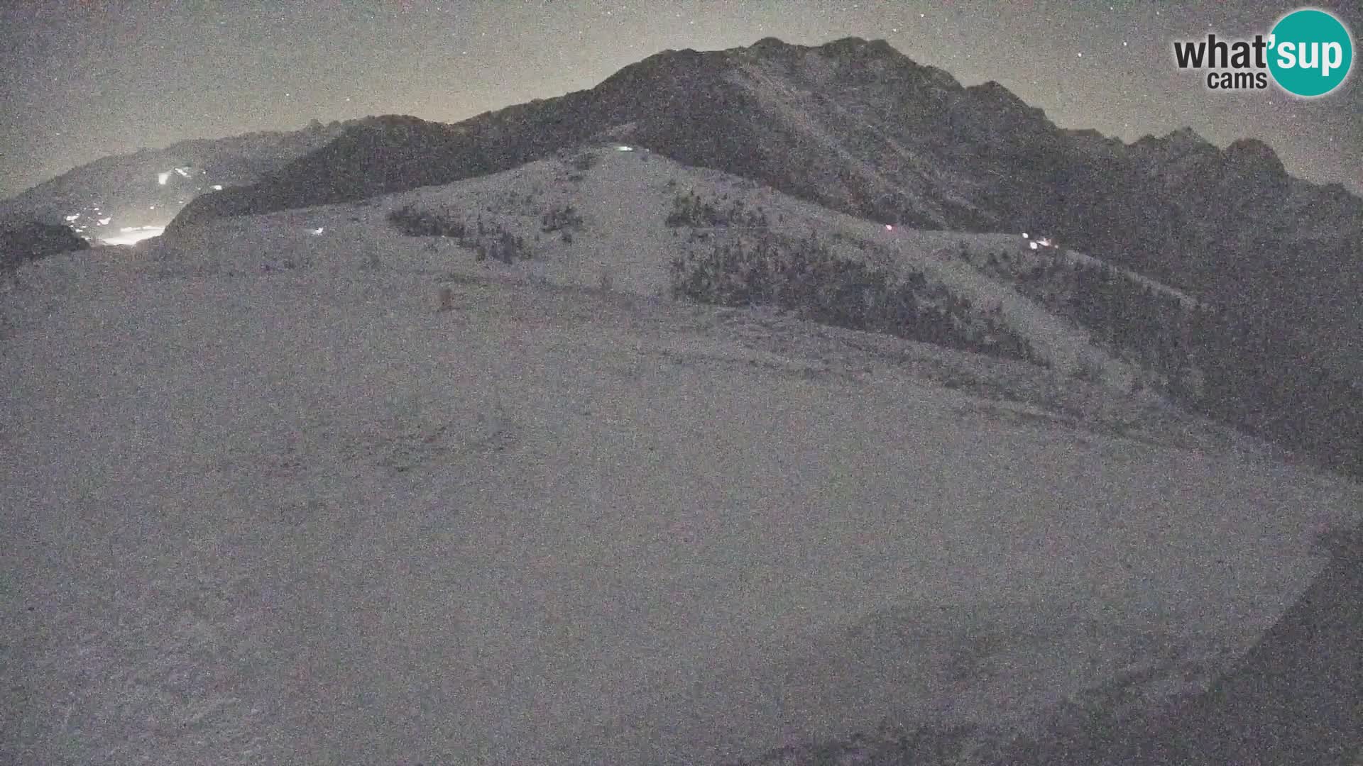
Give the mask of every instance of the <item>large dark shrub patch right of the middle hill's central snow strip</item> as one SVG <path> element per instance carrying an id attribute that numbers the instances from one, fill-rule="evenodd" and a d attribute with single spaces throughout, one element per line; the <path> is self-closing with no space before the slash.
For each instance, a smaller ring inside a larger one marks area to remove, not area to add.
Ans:
<path id="1" fill-rule="evenodd" d="M 886 333 L 991 356 L 1040 363 L 999 309 L 968 300 L 912 273 L 898 278 L 836 256 L 811 233 L 793 243 L 763 234 L 752 245 L 716 245 L 671 263 L 672 294 L 699 303 L 774 305 L 837 327 Z"/>

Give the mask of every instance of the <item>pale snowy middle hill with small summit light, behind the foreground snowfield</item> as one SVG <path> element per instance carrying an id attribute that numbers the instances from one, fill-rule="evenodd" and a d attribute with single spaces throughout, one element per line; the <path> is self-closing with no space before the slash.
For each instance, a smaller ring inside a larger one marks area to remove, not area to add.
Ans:
<path id="1" fill-rule="evenodd" d="M 761 226 L 750 226 L 746 221 L 720 221 L 720 225 L 713 226 L 668 225 L 677 200 L 687 196 L 707 200 L 706 204 L 713 203 L 721 217 L 743 218 L 762 211 L 765 218 Z M 343 215 L 338 211 L 350 207 L 225 218 L 172 230 L 164 241 L 232 243 L 213 245 L 214 269 L 232 263 L 234 256 L 230 254 L 237 249 L 248 259 L 254 258 L 254 248 L 269 247 L 255 244 L 259 237 L 274 237 L 277 228 L 292 232 L 290 241 L 296 243 L 292 247 L 303 248 L 298 252 L 330 247 L 334 241 L 368 241 L 379 237 L 382 244 L 375 240 L 375 247 L 386 254 L 397 254 L 410 249 L 414 241 L 397 236 L 386 217 L 403 209 L 414 215 L 428 215 L 432 221 L 465 226 L 469 232 L 477 230 L 481 224 L 485 234 L 470 233 L 469 240 L 481 237 L 492 249 L 496 249 L 495 240 L 502 232 L 519 237 L 523 252 L 512 259 L 514 263 L 496 267 L 521 278 L 579 286 L 597 286 L 605 279 L 613 289 L 638 294 L 667 293 L 668 264 L 679 254 L 751 245 L 766 236 L 795 241 L 814 233 L 827 241 L 840 258 L 866 262 L 901 278 L 920 273 L 951 296 L 977 307 L 975 313 L 983 316 L 996 311 L 1002 324 L 1025 338 L 1040 361 L 1062 373 L 1088 373 L 1094 380 L 1120 390 L 1130 390 L 1137 382 L 1160 391 L 1169 386 L 1169 372 L 1152 369 L 1149 358 L 1131 353 L 1130 349 L 1103 343 L 1094 330 L 1075 323 L 1070 316 L 1055 313 L 1056 305 L 1063 308 L 1071 303 L 1073 296 L 1066 290 L 1073 293 L 1078 288 L 1060 285 L 1051 290 L 1048 294 L 1059 301 L 1055 305 L 1041 305 L 1035 293 L 1020 289 L 1024 266 L 1062 269 L 1082 264 L 1094 270 L 1108 269 L 1099 259 L 1054 248 L 1025 252 L 1024 240 L 1018 234 L 931 232 L 902 226 L 886 230 L 879 224 L 793 199 L 751 180 L 687 168 L 628 144 L 583 144 L 568 149 L 553 159 L 532 162 L 514 170 L 375 198 Z M 567 226 L 566 232 L 545 224 L 547 215 L 568 210 L 581 222 Z M 316 228 L 324 232 L 316 237 L 308 234 Z M 549 232 L 548 228 L 555 230 Z M 564 233 L 571 241 L 564 241 Z M 428 237 L 421 241 L 420 258 L 429 260 L 431 267 L 446 262 L 459 269 L 476 266 L 454 237 Z M 1000 252 L 1020 254 L 1013 262 L 1013 271 L 981 269 L 985 255 L 994 258 Z M 496 256 L 491 256 L 489 263 L 492 262 L 496 262 Z M 256 259 L 255 263 L 237 263 L 234 269 L 259 266 Z M 1112 271 L 1141 290 L 1149 289 L 1153 294 L 1176 300 L 1186 309 L 1201 305 L 1153 279 L 1127 270 Z M 1187 333 L 1187 328 L 1175 333 Z"/>

